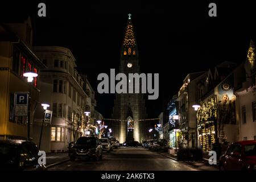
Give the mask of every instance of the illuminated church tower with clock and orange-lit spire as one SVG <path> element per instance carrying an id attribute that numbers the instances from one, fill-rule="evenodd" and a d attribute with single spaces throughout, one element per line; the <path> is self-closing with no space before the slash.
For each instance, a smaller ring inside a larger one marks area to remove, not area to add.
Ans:
<path id="1" fill-rule="evenodd" d="M 125 73 L 127 78 L 129 73 L 140 74 L 138 44 L 135 39 L 134 26 L 131 23 L 131 14 L 129 14 L 122 42 L 119 73 Z M 117 138 L 120 143 L 128 140 L 142 142 L 146 138 L 145 121 L 138 121 L 138 119 L 146 118 L 143 94 L 128 93 L 128 91 L 116 94 L 113 118 L 122 120 L 112 122 L 113 137 Z"/>

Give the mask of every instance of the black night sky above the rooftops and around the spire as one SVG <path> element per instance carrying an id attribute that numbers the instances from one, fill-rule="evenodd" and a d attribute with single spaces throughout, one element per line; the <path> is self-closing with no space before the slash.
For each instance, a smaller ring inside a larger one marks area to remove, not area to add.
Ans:
<path id="1" fill-rule="evenodd" d="M 46 3 L 46 18 L 37 16 L 36 1 L 8 2 L 1 2 L 1 17 L 31 14 L 34 44 L 71 49 L 77 69 L 88 75 L 96 93 L 98 74 L 119 68 L 131 13 L 141 72 L 160 78 L 158 100 L 146 101 L 150 118 L 167 107 L 188 73 L 225 60 L 241 63 L 256 34 L 253 1 L 40 1 Z M 217 17 L 208 16 L 210 2 L 217 4 Z M 111 117 L 113 99 L 114 94 L 96 94 L 97 109 L 105 117 Z"/>

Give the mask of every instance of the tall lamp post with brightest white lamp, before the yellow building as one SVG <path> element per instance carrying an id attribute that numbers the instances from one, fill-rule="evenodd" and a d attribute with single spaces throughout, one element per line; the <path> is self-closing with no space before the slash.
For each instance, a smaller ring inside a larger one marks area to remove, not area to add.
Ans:
<path id="1" fill-rule="evenodd" d="M 29 97 L 28 97 L 28 113 L 27 113 L 27 140 L 30 140 L 30 101 L 31 101 L 31 83 L 34 80 L 34 77 L 37 77 L 37 73 L 33 72 L 26 72 L 23 73 L 24 77 L 27 77 L 27 82 L 29 83 L 30 86 L 30 92 L 29 92 Z"/>

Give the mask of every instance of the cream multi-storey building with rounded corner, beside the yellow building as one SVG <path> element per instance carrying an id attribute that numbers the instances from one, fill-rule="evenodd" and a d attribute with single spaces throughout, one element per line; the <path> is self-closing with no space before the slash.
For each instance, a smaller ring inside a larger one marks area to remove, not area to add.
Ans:
<path id="1" fill-rule="evenodd" d="M 34 47 L 34 52 L 47 66 L 40 78 L 39 102 L 47 102 L 52 110 L 51 124 L 43 129 L 40 150 L 64 152 L 69 142 L 83 134 L 84 111 L 86 107 L 86 84 L 76 71 L 76 60 L 68 48 L 47 46 Z M 41 107 L 40 105 L 38 107 Z M 88 106 L 87 106 L 88 107 Z M 90 107 L 88 107 L 90 109 Z M 37 109 L 34 125 L 34 142 L 39 143 L 43 110 Z M 79 129 L 77 129 L 79 126 Z"/>

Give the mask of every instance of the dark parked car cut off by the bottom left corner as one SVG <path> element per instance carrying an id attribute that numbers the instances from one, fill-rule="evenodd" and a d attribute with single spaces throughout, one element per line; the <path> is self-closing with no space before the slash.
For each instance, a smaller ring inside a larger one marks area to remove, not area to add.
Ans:
<path id="1" fill-rule="evenodd" d="M 39 150 L 34 142 L 26 140 L 0 140 L 0 169 L 46 170 L 39 164 Z"/>

